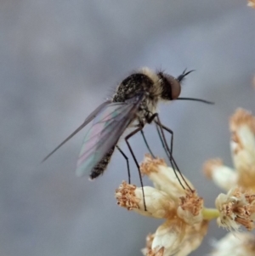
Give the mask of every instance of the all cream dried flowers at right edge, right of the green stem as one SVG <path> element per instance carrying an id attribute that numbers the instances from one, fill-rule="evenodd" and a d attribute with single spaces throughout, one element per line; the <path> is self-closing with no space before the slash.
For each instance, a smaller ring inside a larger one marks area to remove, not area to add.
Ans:
<path id="1" fill-rule="evenodd" d="M 255 227 L 255 117 L 249 111 L 237 109 L 229 119 L 229 129 L 235 168 L 224 166 L 219 159 L 204 165 L 207 177 L 227 191 L 215 201 L 218 225 L 233 231 L 215 244 L 211 255 L 254 255 L 255 236 L 237 231 L 241 226 L 249 231 Z"/>

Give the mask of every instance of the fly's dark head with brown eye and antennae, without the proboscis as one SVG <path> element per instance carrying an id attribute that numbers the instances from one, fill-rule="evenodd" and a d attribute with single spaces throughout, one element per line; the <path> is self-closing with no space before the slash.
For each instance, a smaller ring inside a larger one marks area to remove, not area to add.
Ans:
<path id="1" fill-rule="evenodd" d="M 184 77 L 192 71 L 183 71 L 177 78 L 163 72 L 158 72 L 157 75 L 161 79 L 161 100 L 176 100 L 181 93 L 181 82 Z"/>

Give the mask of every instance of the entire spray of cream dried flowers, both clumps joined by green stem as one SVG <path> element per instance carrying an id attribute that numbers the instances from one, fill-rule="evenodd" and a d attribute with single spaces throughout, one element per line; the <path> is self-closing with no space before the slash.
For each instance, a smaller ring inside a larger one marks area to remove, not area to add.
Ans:
<path id="1" fill-rule="evenodd" d="M 120 206 L 144 216 L 165 219 L 156 233 L 147 236 L 146 256 L 185 256 L 201 245 L 208 223 L 217 219 L 218 225 L 231 232 L 216 242 L 211 255 L 255 255 L 255 236 L 238 232 L 242 227 L 254 229 L 255 221 L 255 117 L 238 109 L 230 118 L 231 152 L 235 168 L 224 166 L 219 159 L 209 160 L 204 173 L 226 191 L 219 194 L 216 208 L 205 208 L 203 199 L 186 178 L 190 190 L 184 191 L 172 168 L 159 158 L 146 155 L 140 169 L 154 187 L 122 182 L 116 190 Z M 181 177 L 179 177 L 181 179 Z"/>

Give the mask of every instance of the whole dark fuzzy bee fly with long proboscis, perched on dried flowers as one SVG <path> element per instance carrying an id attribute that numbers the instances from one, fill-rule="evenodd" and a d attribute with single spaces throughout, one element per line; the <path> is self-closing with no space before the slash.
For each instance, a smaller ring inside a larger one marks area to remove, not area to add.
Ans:
<path id="1" fill-rule="evenodd" d="M 85 135 L 82 144 L 82 150 L 77 161 L 77 175 L 82 176 L 83 174 L 90 173 L 90 178 L 95 179 L 100 174 L 103 174 L 111 160 L 113 151 L 117 148 L 127 161 L 128 180 L 130 183 L 128 158 L 118 147 L 117 143 L 127 128 L 133 128 L 133 131 L 125 137 L 125 141 L 137 168 L 139 168 L 139 163 L 133 154 L 128 139 L 134 134 L 141 132 L 144 142 L 150 151 L 150 147 L 144 137 L 143 128 L 146 123 L 154 122 L 156 123 L 157 132 L 163 148 L 167 153 L 167 157 L 173 166 L 173 170 L 175 172 L 177 169 L 179 172 L 172 154 L 173 131 L 161 124 L 158 113 L 156 112 L 156 107 L 160 101 L 169 100 L 196 100 L 208 104 L 212 103 L 207 100 L 178 97 L 181 92 L 181 82 L 184 80 L 184 77 L 191 72 L 185 71 L 175 78 L 163 71 L 151 71 L 149 68 L 145 67 L 125 78 L 116 88 L 116 93 L 113 95 L 112 99 L 99 105 L 99 107 L 86 118 L 82 125 L 58 145 L 54 151 L 49 153 L 42 162 L 48 159 L 60 146 L 64 145 L 66 141 L 84 128 L 88 122 L 93 121 L 93 125 Z M 167 145 L 164 131 L 171 134 L 170 148 Z M 152 154 L 151 151 L 150 153 Z M 178 175 L 176 176 L 178 178 Z M 140 172 L 139 177 L 143 188 Z M 185 184 L 187 185 L 186 182 Z"/>

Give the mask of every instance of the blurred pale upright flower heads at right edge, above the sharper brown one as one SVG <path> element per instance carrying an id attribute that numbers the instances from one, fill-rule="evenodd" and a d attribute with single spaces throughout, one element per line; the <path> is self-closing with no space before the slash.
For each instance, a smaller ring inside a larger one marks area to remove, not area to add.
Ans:
<path id="1" fill-rule="evenodd" d="M 205 163 L 204 173 L 226 191 L 235 186 L 255 191 L 255 117 L 237 109 L 229 119 L 229 128 L 235 170 L 217 159 Z"/>

